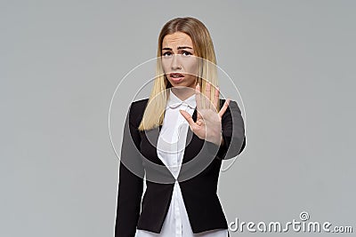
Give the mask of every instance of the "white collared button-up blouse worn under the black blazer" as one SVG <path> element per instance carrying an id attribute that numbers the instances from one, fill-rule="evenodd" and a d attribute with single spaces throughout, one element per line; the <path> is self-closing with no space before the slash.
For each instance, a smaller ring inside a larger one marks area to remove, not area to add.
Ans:
<path id="1" fill-rule="evenodd" d="M 157 154 L 159 159 L 177 179 L 182 165 L 186 136 L 189 129 L 188 122 L 179 112 L 180 109 L 193 115 L 196 100 L 195 94 L 182 101 L 174 92 L 169 91 L 166 104 L 166 114 L 158 137 Z M 136 229 L 135 237 L 227 237 L 227 229 L 193 233 L 190 226 L 187 210 L 182 198 L 182 191 L 178 181 L 174 183 L 171 203 L 163 223 L 161 233 L 152 233 Z"/>

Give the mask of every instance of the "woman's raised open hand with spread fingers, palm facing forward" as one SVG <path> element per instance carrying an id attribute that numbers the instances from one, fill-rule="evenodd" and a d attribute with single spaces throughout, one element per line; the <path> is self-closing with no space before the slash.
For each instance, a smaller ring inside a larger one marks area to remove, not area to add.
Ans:
<path id="1" fill-rule="evenodd" d="M 230 99 L 226 99 L 223 107 L 217 113 L 217 105 L 220 103 L 219 88 L 216 88 L 214 92 L 214 99 L 210 98 L 211 83 L 206 83 L 205 94 L 200 93 L 200 86 L 197 84 L 195 99 L 197 102 L 197 122 L 194 122 L 191 115 L 180 110 L 182 116 L 190 125 L 190 130 L 194 132 L 200 139 L 206 139 L 206 141 L 212 142 L 217 146 L 223 145 L 222 136 L 222 118 L 226 109 L 229 106 Z M 205 107 L 204 107 L 205 105 Z"/>

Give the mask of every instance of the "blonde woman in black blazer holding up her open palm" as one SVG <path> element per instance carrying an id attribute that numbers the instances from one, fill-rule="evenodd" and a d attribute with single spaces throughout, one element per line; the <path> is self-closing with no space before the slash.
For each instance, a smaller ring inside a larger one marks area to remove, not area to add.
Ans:
<path id="1" fill-rule="evenodd" d="M 217 182 L 246 137 L 237 103 L 219 99 L 214 65 L 202 22 L 162 28 L 150 99 L 134 101 L 126 117 L 115 236 L 229 236 Z"/>

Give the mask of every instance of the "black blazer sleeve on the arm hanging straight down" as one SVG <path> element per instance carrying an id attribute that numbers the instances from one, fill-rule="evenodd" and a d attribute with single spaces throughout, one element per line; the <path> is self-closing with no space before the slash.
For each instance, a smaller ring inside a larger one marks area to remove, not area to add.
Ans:
<path id="1" fill-rule="evenodd" d="M 144 169 L 139 150 L 138 115 L 133 105 L 126 116 L 121 146 L 115 237 L 133 237 L 141 211 Z"/>

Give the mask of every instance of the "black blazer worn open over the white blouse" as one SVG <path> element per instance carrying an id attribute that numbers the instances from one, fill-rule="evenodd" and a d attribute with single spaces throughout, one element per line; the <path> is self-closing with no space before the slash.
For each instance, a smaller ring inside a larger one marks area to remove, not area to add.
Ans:
<path id="1" fill-rule="evenodd" d="M 137 130 L 147 102 L 148 99 L 134 101 L 126 116 L 119 164 L 116 237 L 133 237 L 136 228 L 160 233 L 176 181 L 158 158 L 156 147 L 162 125 Z M 220 99 L 221 107 L 224 102 L 225 99 Z M 197 109 L 192 118 L 197 121 Z M 228 228 L 216 194 L 220 168 L 223 159 L 237 156 L 246 146 L 241 111 L 233 100 L 223 115 L 222 130 L 224 143 L 217 146 L 188 129 L 177 181 L 193 233 Z M 147 189 L 142 199 L 144 175 Z"/>

